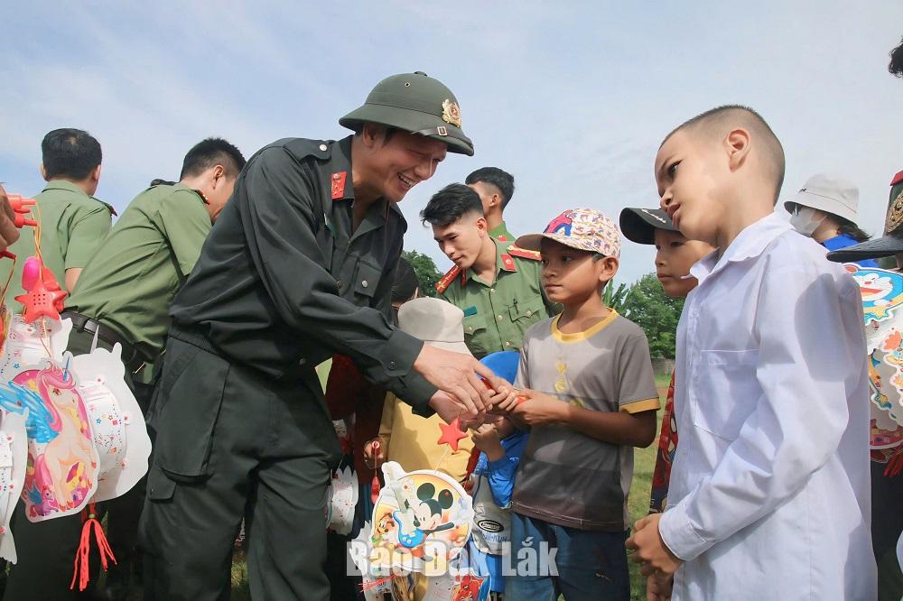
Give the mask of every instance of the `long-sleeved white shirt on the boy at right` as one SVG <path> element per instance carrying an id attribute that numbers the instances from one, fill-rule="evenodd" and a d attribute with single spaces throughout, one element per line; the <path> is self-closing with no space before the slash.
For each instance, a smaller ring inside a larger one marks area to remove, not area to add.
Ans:
<path id="1" fill-rule="evenodd" d="M 675 600 L 876 596 L 861 297 L 824 254 L 772 214 L 691 269 L 659 525 Z"/>

